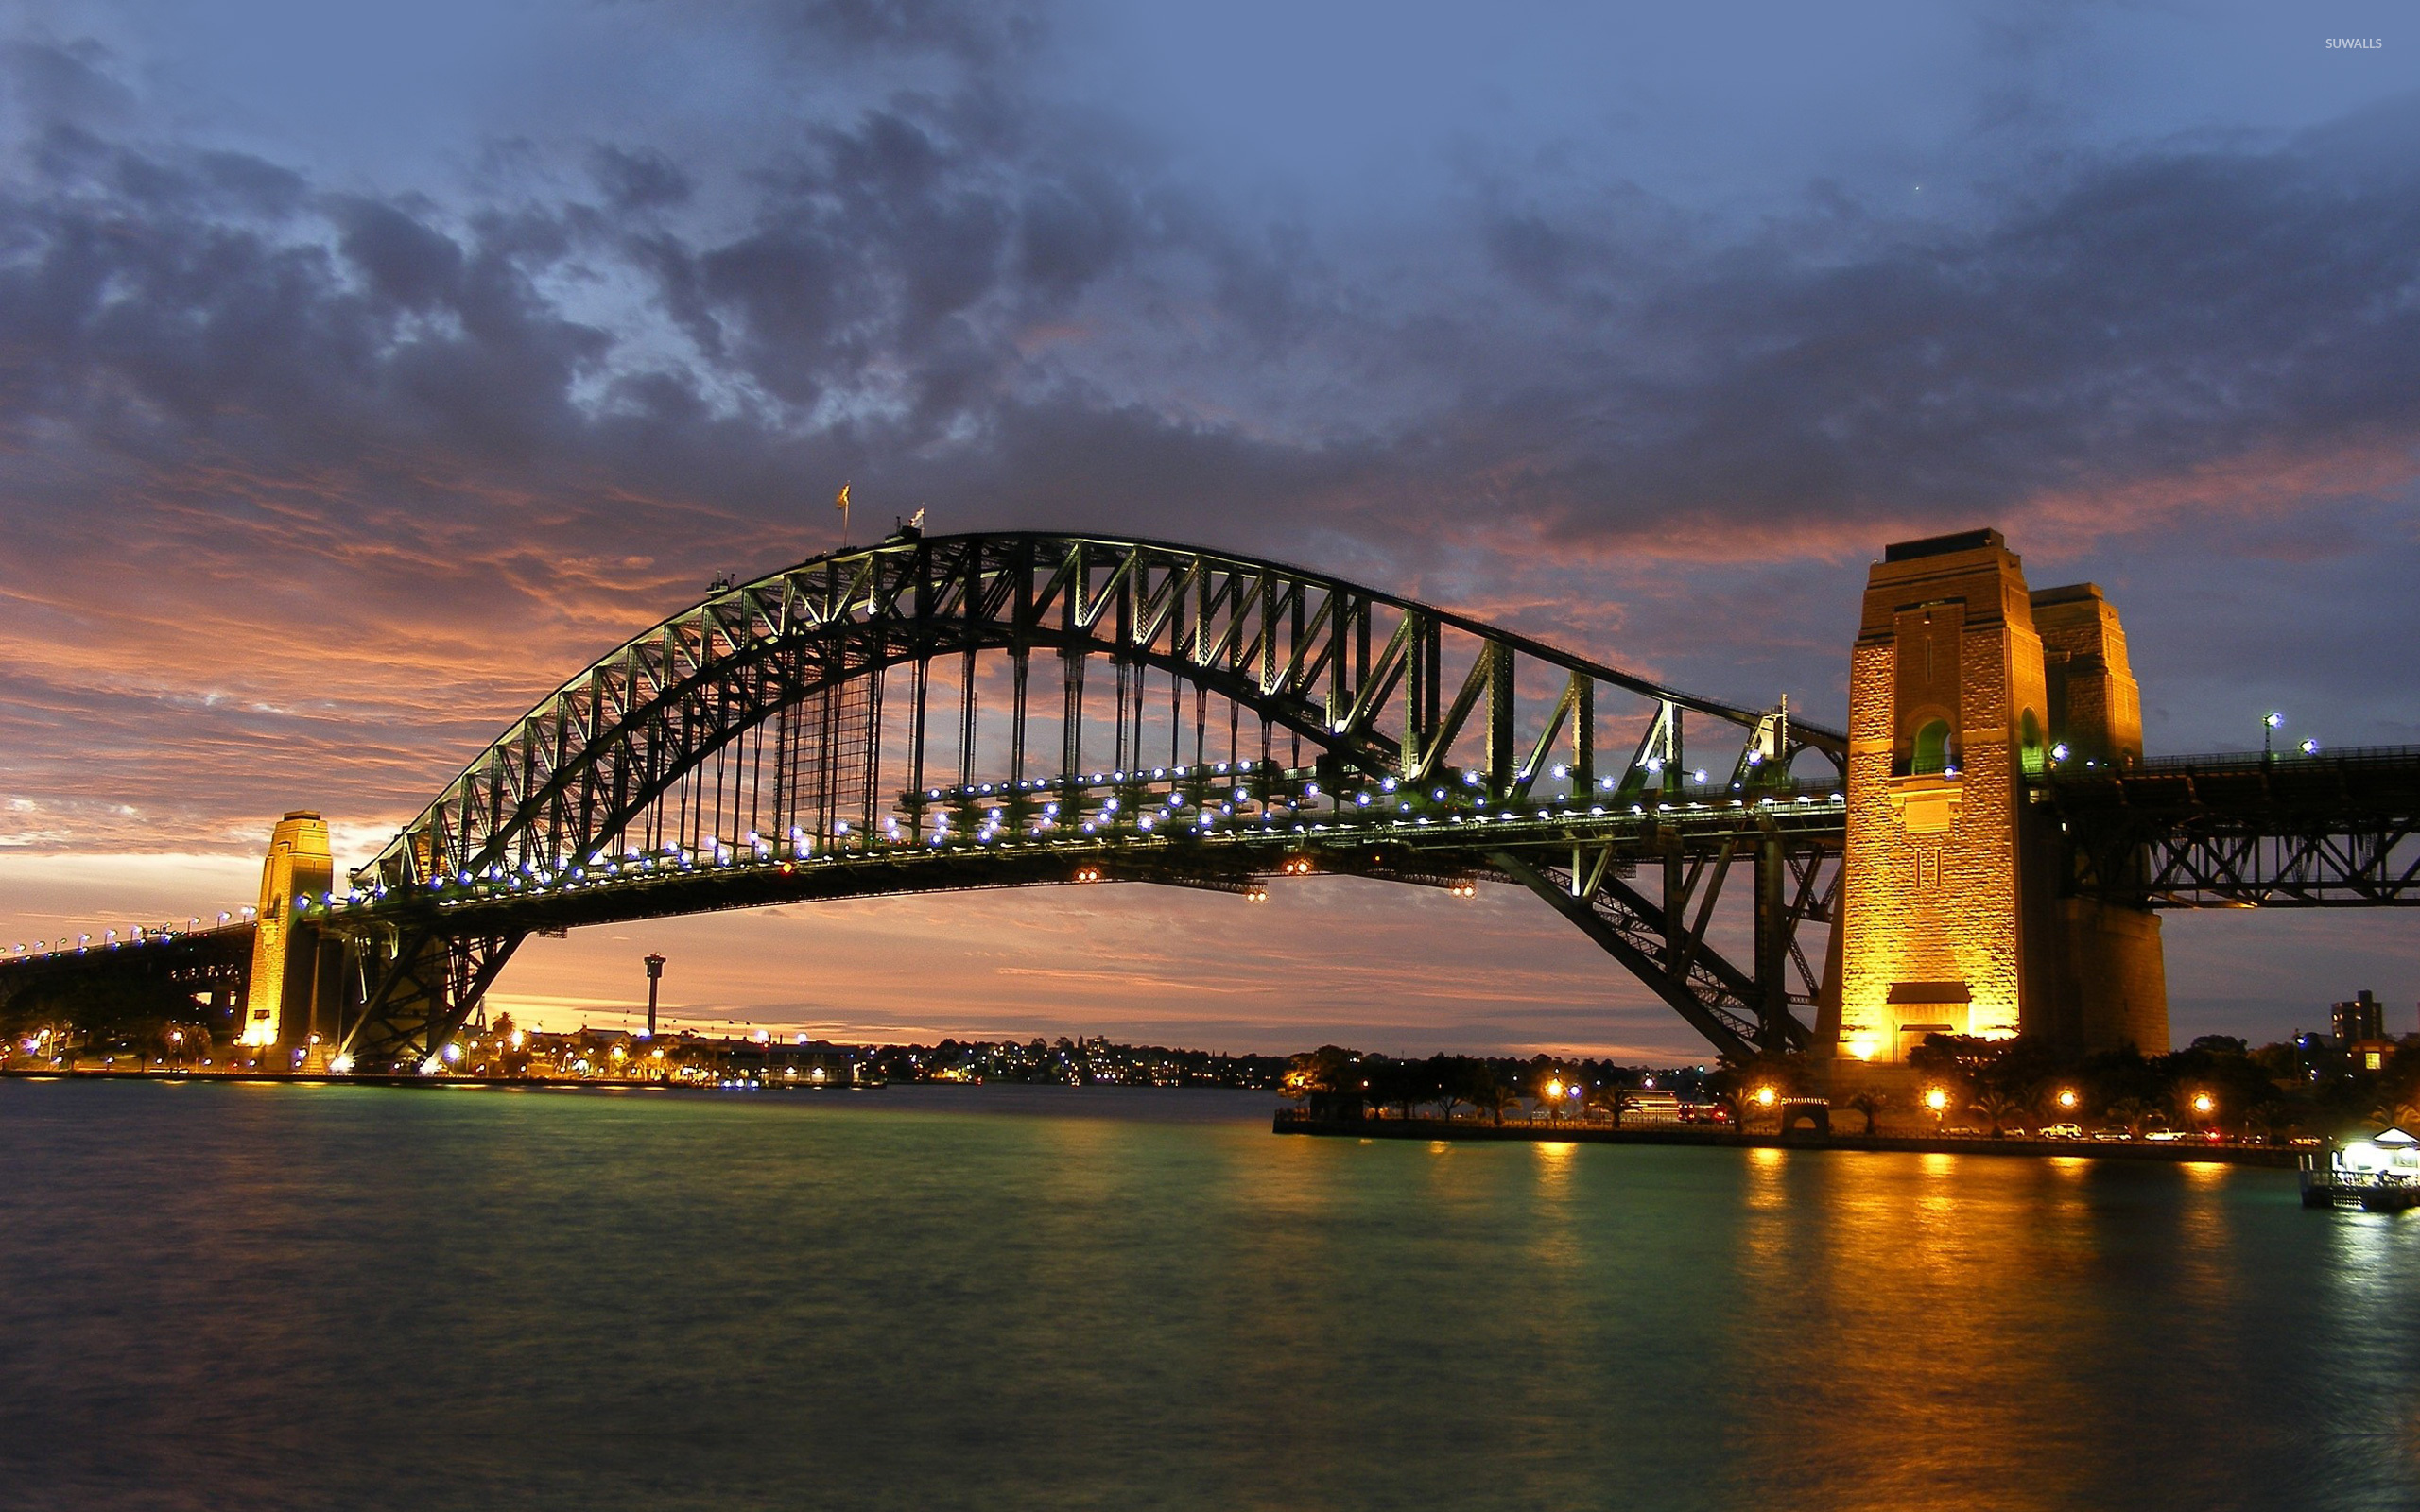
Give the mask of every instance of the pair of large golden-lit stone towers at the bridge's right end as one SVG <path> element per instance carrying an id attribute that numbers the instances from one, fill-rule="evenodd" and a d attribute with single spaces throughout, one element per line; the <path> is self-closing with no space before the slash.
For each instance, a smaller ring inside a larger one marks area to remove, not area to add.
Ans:
<path id="1" fill-rule="evenodd" d="M 2142 757 L 2125 631 L 2084 583 L 2033 593 L 1996 530 L 1888 547 L 1849 670 L 1837 1050 L 1926 1033 L 2168 1048 L 2159 917 L 2059 895 L 2028 781 Z"/>

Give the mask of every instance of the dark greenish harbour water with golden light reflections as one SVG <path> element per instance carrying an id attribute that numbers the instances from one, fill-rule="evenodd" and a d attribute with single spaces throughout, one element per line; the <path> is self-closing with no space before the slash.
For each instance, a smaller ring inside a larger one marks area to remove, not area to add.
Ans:
<path id="1" fill-rule="evenodd" d="M 2420 1214 L 1270 1106 L 0 1086 L 0 1507 L 2420 1505 Z"/>

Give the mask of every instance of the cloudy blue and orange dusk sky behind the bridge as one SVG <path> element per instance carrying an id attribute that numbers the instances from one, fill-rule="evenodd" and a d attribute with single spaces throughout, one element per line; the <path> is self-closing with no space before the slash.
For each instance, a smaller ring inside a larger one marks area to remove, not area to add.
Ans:
<path id="1" fill-rule="evenodd" d="M 1996 525 L 2159 752 L 2420 745 L 2420 31 L 2372 5 L 0 5 L 0 948 L 365 859 L 859 523 L 1300 561 L 1842 723 Z M 2330 36 L 2379 39 L 2328 48 Z M 864 532 L 862 532 L 864 535 Z M 2178 1040 L 2410 912 L 2168 914 Z M 1508 888 L 1060 888 L 532 941 L 832 1038 L 1701 1045 Z"/>

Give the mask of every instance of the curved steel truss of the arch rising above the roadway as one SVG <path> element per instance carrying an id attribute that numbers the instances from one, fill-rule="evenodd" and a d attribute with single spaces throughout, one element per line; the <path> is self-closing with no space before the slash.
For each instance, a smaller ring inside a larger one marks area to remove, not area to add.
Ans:
<path id="1" fill-rule="evenodd" d="M 1377 622 L 1392 634 L 1372 658 Z M 1440 692 L 1440 641 L 1469 656 Z M 847 677 L 978 648 L 1111 656 L 1256 711 L 1367 774 L 1428 779 L 1474 711 L 1486 777 L 1525 798 L 1566 731 L 1595 777 L 1604 692 L 1745 733 L 1733 769 L 1800 750 L 1842 760 L 1834 731 L 1682 694 L 1447 610 L 1280 564 L 1164 542 L 978 535 L 895 537 L 724 590 L 636 636 L 513 723 L 358 873 L 370 888 L 535 864 L 615 839 L 675 781 L 786 704 Z M 1532 665 L 1534 663 L 1534 665 Z M 1520 728 L 1515 677 L 1563 680 L 1542 728 Z M 1019 719 L 1024 719 L 1019 706 Z M 1534 735 L 1527 743 L 1522 735 Z M 1754 755 L 1754 762 L 1750 762 Z M 1663 762 L 1658 762 L 1663 767 Z M 1624 784 L 1636 791 L 1636 772 Z M 1677 769 L 1667 772 L 1672 781 Z"/>

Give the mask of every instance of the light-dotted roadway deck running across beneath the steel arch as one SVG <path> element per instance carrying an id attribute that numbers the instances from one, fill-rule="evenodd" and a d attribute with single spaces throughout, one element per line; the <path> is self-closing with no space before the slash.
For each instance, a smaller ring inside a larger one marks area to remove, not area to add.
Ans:
<path id="1" fill-rule="evenodd" d="M 494 878 L 448 883 L 426 895 L 339 898 L 307 912 L 332 934 L 368 934 L 404 922 L 443 919 L 445 934 L 571 929 L 828 898 L 1026 888 L 1079 881 L 1133 881 L 1241 893 L 1283 876 L 1287 859 L 1312 873 L 1375 876 L 1452 885 L 1500 876 L 1491 852 L 1571 859 L 1612 847 L 1614 866 L 1677 849 L 1689 856 L 1776 835 L 1793 849 L 1837 849 L 1846 806 L 1830 793 L 1754 801 L 1634 806 L 1621 813 L 1532 810 L 1525 815 L 1428 820 L 1331 815 L 1319 823 L 1200 827 L 1135 825 L 1048 837 L 997 835 L 941 842 L 871 842 L 813 859 L 782 859 L 770 847 L 731 859 L 641 859 L 610 876 Z"/>

